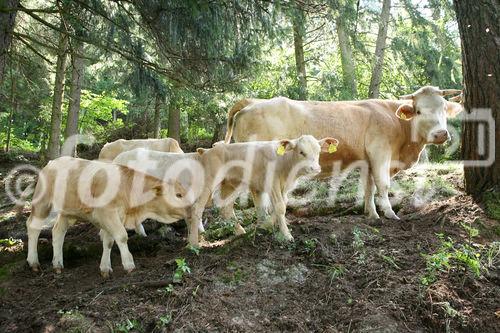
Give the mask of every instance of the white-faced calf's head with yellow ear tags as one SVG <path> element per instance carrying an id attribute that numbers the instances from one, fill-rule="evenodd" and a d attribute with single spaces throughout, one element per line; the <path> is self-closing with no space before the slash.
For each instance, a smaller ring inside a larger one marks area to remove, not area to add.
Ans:
<path id="1" fill-rule="evenodd" d="M 335 147 L 336 150 L 338 143 L 339 141 L 334 138 L 317 140 L 312 135 L 302 135 L 295 140 L 281 140 L 278 146 L 278 154 L 293 154 L 294 161 L 302 166 L 301 174 L 317 174 L 321 172 L 319 165 L 320 153 L 333 153 L 332 147 Z"/>

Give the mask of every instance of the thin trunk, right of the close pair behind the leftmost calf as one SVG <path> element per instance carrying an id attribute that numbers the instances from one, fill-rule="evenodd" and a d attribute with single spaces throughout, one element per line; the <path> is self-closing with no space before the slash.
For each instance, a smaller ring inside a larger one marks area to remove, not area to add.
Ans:
<path id="1" fill-rule="evenodd" d="M 83 44 L 79 41 L 73 41 L 75 49 L 71 54 L 71 87 L 69 91 L 68 118 L 66 121 L 66 131 L 64 137 L 78 134 L 78 115 L 80 113 L 80 99 L 82 95 L 82 84 L 85 75 L 85 60 L 78 54 L 83 54 Z M 76 146 L 75 152 L 76 153 Z"/>

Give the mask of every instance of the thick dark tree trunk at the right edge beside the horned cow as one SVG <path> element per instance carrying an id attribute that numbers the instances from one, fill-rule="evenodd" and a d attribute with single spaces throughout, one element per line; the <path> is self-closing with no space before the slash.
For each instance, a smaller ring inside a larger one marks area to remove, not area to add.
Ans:
<path id="1" fill-rule="evenodd" d="M 485 160 L 490 157 L 489 166 L 465 165 L 465 190 L 476 199 L 486 191 L 500 186 L 500 27 L 498 0 L 454 0 L 462 41 L 462 66 L 464 75 L 464 108 L 470 114 L 477 110 L 486 115 L 489 110 L 496 130 L 484 122 L 464 121 L 462 135 L 462 156 L 464 160 Z M 484 108 L 480 110 L 479 108 Z M 488 134 L 494 132 L 494 141 Z M 481 143 L 485 142 L 485 145 Z M 491 145 L 494 156 L 488 156 Z"/>

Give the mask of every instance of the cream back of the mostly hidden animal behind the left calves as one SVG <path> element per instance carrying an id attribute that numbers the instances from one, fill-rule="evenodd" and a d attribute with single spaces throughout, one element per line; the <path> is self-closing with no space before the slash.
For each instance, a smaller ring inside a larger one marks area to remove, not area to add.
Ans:
<path id="1" fill-rule="evenodd" d="M 112 161 L 124 151 L 129 151 L 136 148 L 144 148 L 148 150 L 164 151 L 170 153 L 182 153 L 177 140 L 172 138 L 165 139 L 134 139 L 125 140 L 119 139 L 113 142 L 106 143 L 99 152 L 99 160 Z"/>

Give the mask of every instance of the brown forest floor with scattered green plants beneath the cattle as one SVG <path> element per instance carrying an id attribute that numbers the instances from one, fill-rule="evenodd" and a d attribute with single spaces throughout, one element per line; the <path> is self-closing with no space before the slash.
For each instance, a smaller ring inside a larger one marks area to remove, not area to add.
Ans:
<path id="1" fill-rule="evenodd" d="M 68 231 L 62 274 L 49 231 L 42 272 L 29 270 L 29 208 L 16 219 L 2 192 L 0 331 L 500 332 L 499 221 L 463 193 L 462 177 L 454 164 L 398 175 L 401 221 L 363 216 L 355 176 L 335 205 L 328 183 L 304 181 L 287 213 L 293 243 L 255 228 L 252 208 L 238 211 L 239 237 L 207 210 L 199 253 L 186 248 L 184 223 L 148 221 L 147 238 L 129 238 L 137 269 L 126 274 L 115 247 L 109 279 L 89 224 Z"/>

